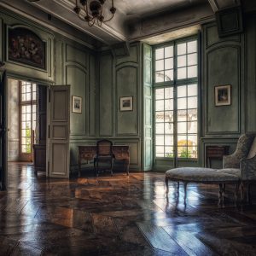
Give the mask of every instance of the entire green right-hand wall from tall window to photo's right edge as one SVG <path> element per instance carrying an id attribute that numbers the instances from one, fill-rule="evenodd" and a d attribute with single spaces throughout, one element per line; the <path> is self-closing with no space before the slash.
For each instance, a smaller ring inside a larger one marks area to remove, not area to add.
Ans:
<path id="1" fill-rule="evenodd" d="M 201 166 L 207 145 L 229 145 L 232 153 L 242 133 L 256 131 L 255 19 L 245 16 L 244 32 L 224 38 L 214 22 L 202 26 Z M 214 86 L 222 84 L 231 85 L 231 105 L 216 107 Z"/>

